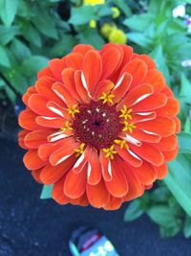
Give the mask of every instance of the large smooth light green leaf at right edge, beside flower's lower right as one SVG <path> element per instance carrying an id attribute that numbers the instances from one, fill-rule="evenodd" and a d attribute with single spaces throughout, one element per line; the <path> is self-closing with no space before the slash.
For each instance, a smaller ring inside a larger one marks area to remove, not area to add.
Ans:
<path id="1" fill-rule="evenodd" d="M 191 216 L 191 155 L 180 154 L 168 166 L 169 173 L 164 181 L 180 206 Z"/>

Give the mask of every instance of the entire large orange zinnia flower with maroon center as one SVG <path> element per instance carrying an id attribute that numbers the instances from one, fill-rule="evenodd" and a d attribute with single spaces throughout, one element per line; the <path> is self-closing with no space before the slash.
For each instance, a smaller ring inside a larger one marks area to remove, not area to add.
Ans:
<path id="1" fill-rule="evenodd" d="M 25 166 L 60 204 L 114 210 L 167 174 L 180 106 L 146 55 L 127 45 L 77 45 L 23 96 Z"/>

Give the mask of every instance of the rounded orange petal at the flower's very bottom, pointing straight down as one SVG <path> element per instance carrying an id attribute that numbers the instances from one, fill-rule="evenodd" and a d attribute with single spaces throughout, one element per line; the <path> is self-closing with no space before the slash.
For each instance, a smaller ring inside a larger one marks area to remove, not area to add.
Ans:
<path id="1" fill-rule="evenodd" d="M 106 206 L 110 199 L 110 194 L 105 187 L 103 179 L 101 179 L 96 185 L 90 185 L 87 183 L 86 193 L 90 203 L 96 208 Z"/>

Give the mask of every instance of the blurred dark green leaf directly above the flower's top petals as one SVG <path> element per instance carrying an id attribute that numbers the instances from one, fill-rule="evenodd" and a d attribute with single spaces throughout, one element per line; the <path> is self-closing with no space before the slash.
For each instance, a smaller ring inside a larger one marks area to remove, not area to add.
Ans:
<path id="1" fill-rule="evenodd" d="M 85 44 L 92 44 L 96 49 L 100 49 L 105 41 L 94 29 L 86 29 L 83 33 L 78 35 L 79 42 Z"/>

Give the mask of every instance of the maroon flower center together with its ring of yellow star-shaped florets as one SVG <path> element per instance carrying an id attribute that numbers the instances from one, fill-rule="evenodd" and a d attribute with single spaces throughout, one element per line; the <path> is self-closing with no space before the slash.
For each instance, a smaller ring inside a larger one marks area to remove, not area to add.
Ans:
<path id="1" fill-rule="evenodd" d="M 136 128 L 132 123 L 133 109 L 123 105 L 117 110 L 114 98 L 115 95 L 103 92 L 99 101 L 76 104 L 68 109 L 73 120 L 67 121 L 61 129 L 72 130 L 74 138 L 81 142 L 80 147 L 74 150 L 76 157 L 84 152 L 86 146 L 103 151 L 110 159 L 114 159 L 117 153 L 115 145 L 128 149 L 127 141 L 119 134 L 132 133 Z"/>

